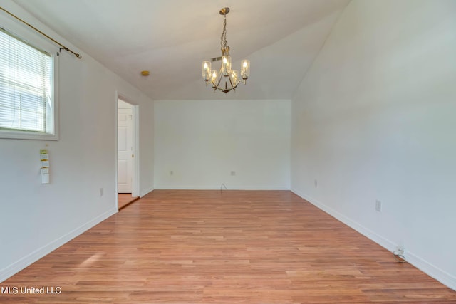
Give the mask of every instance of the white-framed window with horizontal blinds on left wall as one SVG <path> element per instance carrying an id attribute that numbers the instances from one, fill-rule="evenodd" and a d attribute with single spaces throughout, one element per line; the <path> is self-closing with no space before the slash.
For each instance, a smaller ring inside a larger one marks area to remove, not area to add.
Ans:
<path id="1" fill-rule="evenodd" d="M 0 137 L 57 140 L 51 53 L 0 28 Z"/>

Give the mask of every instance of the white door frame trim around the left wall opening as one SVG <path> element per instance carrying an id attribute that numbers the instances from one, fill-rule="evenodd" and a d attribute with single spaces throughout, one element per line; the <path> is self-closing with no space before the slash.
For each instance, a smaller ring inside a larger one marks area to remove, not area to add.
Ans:
<path id="1" fill-rule="evenodd" d="M 119 107 L 118 100 L 121 99 L 125 103 L 129 103 L 132 106 L 132 125 L 133 125 L 133 154 L 135 157 L 132 159 L 132 184 L 131 184 L 131 195 L 133 197 L 140 196 L 140 170 L 139 170 L 139 105 L 134 103 L 128 96 L 115 91 L 115 206 L 119 209 L 119 188 L 118 188 L 118 116 Z"/>

